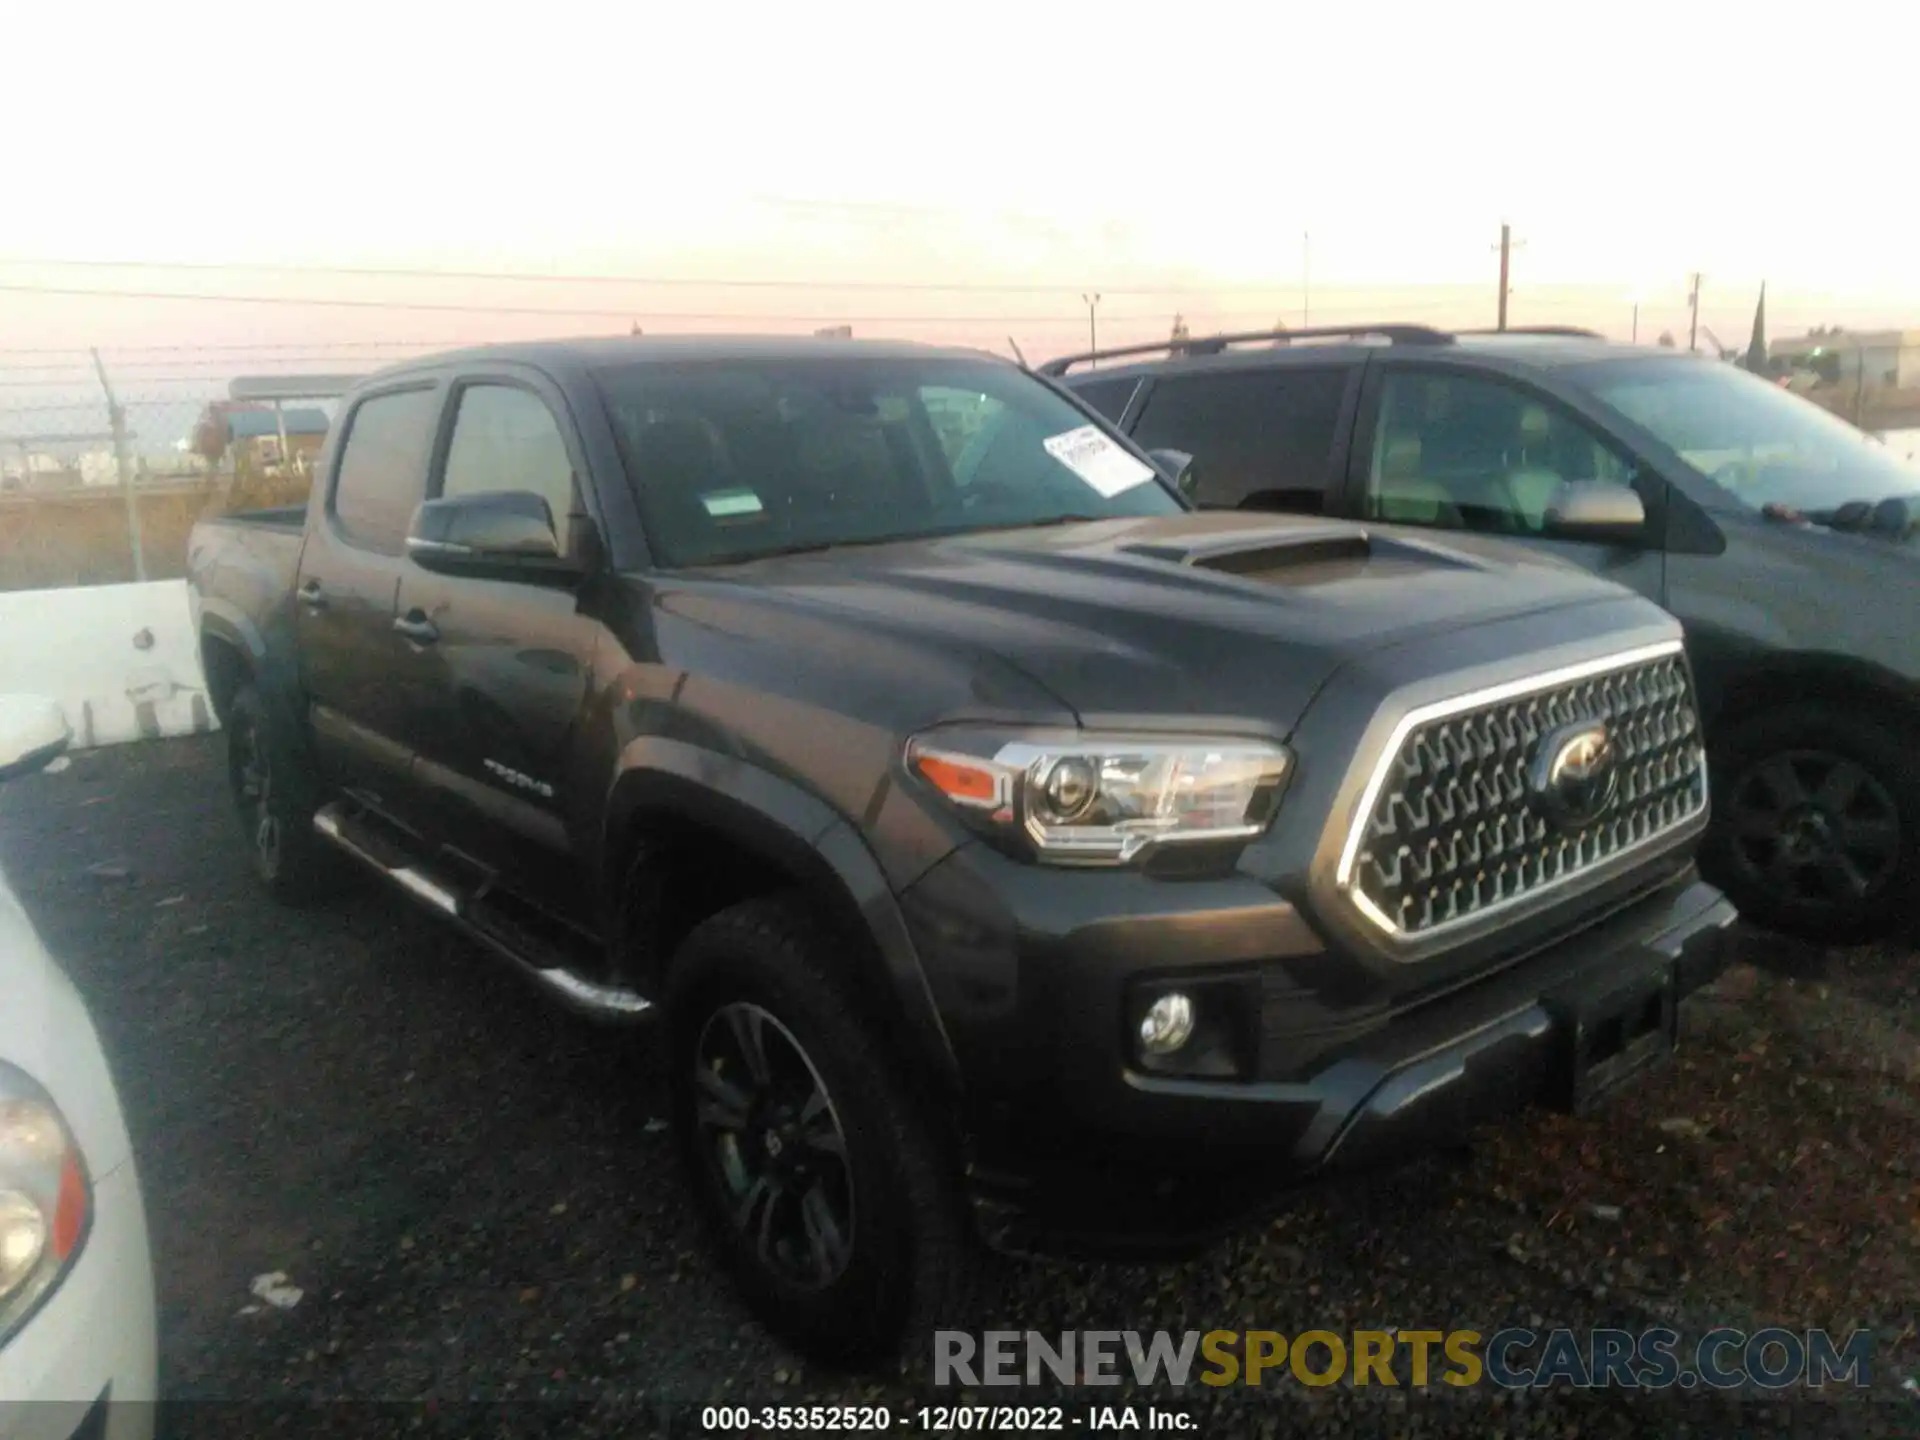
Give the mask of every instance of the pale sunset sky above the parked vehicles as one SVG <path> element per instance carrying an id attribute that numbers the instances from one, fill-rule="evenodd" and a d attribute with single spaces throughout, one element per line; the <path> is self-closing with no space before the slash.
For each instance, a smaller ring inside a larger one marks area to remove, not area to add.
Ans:
<path id="1" fill-rule="evenodd" d="M 35 0 L 0 348 L 1492 324 L 1501 221 L 1515 323 L 1920 326 L 1920 10 L 1313 12 Z"/>

